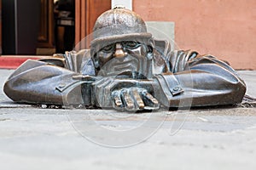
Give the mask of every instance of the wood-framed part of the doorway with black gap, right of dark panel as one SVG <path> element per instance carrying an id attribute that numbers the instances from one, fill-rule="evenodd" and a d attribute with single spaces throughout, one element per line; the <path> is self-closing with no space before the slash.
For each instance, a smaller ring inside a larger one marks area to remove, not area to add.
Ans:
<path id="1" fill-rule="evenodd" d="M 61 3 L 60 8 L 60 0 L 41 0 L 38 36 L 38 52 L 41 54 L 63 54 L 72 50 L 92 32 L 97 17 L 111 8 L 111 0 L 63 0 Z M 64 12 L 60 14 L 59 11 Z"/>

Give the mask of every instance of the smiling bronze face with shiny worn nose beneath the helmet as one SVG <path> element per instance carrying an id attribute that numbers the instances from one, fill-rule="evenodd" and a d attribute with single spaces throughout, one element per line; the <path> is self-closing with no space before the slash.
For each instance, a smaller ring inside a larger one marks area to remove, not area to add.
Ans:
<path id="1" fill-rule="evenodd" d="M 98 76 L 148 77 L 152 58 L 148 45 L 136 41 L 113 42 L 98 47 L 94 57 Z M 149 72 L 148 72 L 149 71 Z"/>

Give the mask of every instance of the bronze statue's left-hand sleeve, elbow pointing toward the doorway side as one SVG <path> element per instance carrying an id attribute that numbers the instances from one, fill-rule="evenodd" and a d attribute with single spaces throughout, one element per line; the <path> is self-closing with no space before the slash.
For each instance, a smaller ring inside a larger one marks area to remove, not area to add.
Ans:
<path id="1" fill-rule="evenodd" d="M 15 102 L 50 105 L 84 104 L 80 74 L 39 60 L 27 60 L 5 82 L 3 91 Z M 90 105 L 90 104 L 89 104 Z"/>

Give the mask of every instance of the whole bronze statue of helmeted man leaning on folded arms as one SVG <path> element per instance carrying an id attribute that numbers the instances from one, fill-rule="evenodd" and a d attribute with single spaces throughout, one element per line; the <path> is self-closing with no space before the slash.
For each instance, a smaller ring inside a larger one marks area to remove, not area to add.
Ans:
<path id="1" fill-rule="evenodd" d="M 226 62 L 192 50 L 171 51 L 140 16 L 114 8 L 96 20 L 90 49 L 27 60 L 4 92 L 20 103 L 142 111 L 234 105 L 246 85 Z"/>

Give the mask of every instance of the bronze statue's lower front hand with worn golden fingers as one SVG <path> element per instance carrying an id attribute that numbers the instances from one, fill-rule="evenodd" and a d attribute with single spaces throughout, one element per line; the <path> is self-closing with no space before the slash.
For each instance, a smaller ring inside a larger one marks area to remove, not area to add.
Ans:
<path id="1" fill-rule="evenodd" d="M 159 102 L 144 88 L 122 88 L 112 92 L 113 108 L 126 111 L 157 110 Z"/>

